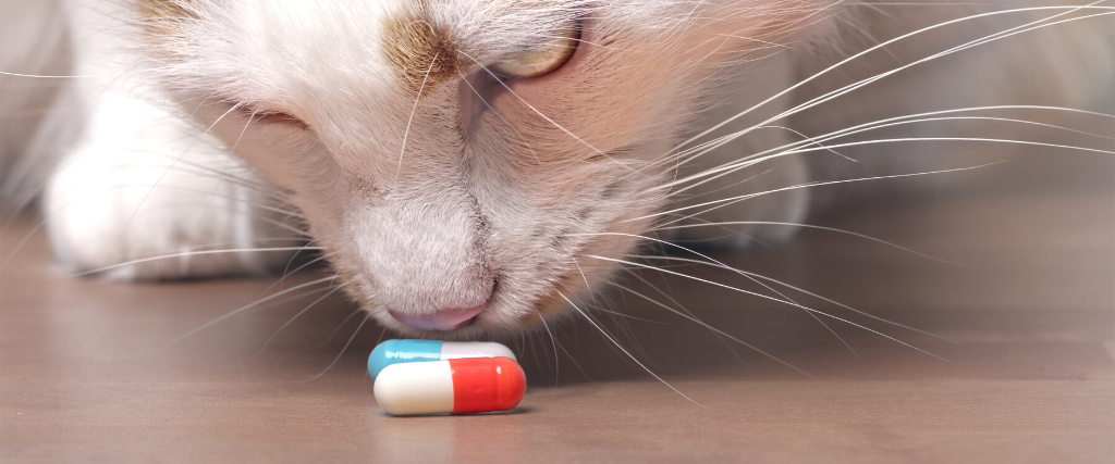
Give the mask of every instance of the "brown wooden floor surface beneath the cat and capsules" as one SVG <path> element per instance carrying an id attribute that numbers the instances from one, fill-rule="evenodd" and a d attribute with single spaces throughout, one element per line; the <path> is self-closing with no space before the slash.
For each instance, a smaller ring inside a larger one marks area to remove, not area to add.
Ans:
<path id="1" fill-rule="evenodd" d="M 895 324 L 770 284 L 867 327 L 817 316 L 826 328 L 644 272 L 607 296 L 619 314 L 598 316 L 665 382 L 569 320 L 554 338 L 510 340 L 526 397 L 473 416 L 385 415 L 365 372 L 384 335 L 357 333 L 342 298 L 292 319 L 321 295 L 302 288 L 223 318 L 277 278 L 59 278 L 40 234 L 21 244 L 23 220 L 0 236 L 0 259 L 14 253 L 0 273 L 0 461 L 1113 462 L 1115 169 L 1083 158 L 1063 181 L 1029 186 L 1004 168 L 1014 187 L 814 220 L 962 265 L 816 230 L 717 255 Z M 731 272 L 670 269 L 770 293 Z"/>

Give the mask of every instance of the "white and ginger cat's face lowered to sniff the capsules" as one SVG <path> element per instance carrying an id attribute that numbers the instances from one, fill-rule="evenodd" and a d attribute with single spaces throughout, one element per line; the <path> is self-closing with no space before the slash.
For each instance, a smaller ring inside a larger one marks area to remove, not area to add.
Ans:
<path id="1" fill-rule="evenodd" d="M 653 220 L 707 79 L 802 2 L 140 0 L 163 82 L 410 336 L 582 306 Z M 571 40 L 579 39 L 579 40 Z M 554 51 L 556 47 L 556 52 Z M 566 52 L 568 51 L 568 52 Z M 525 65 L 524 65 L 525 63 Z M 583 307 L 583 306 L 582 306 Z"/>

